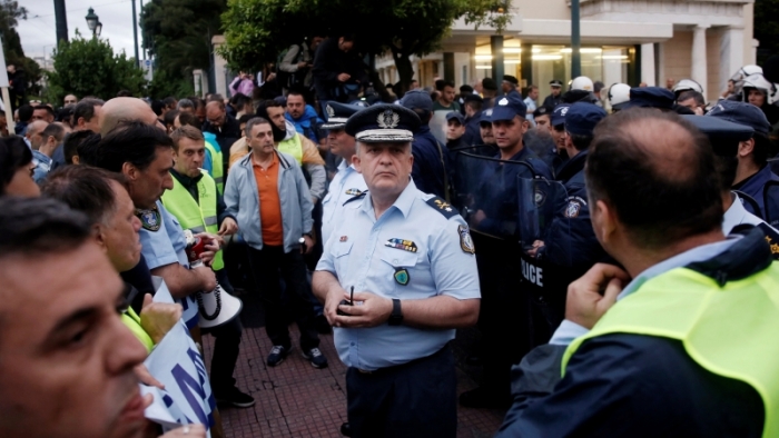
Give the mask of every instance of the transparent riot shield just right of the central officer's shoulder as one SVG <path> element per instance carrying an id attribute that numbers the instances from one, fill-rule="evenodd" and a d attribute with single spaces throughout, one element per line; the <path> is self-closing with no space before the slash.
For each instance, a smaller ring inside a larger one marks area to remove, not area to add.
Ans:
<path id="1" fill-rule="evenodd" d="M 533 170 L 526 162 L 495 157 L 499 152 L 492 147 L 457 151 L 453 203 L 469 222 L 472 235 L 515 243 L 519 240 L 516 183 L 520 178 L 532 179 Z M 479 242 L 475 243 L 479 251 Z"/>

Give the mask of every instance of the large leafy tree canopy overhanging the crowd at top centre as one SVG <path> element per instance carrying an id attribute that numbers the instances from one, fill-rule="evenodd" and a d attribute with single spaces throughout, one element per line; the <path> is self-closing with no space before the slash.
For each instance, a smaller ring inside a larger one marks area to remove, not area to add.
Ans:
<path id="1" fill-rule="evenodd" d="M 259 70 L 312 32 L 354 33 L 362 53 L 392 52 L 407 90 L 412 54 L 438 49 L 461 17 L 500 32 L 510 20 L 505 8 L 505 0 L 229 0 L 220 53 L 236 70 Z"/>

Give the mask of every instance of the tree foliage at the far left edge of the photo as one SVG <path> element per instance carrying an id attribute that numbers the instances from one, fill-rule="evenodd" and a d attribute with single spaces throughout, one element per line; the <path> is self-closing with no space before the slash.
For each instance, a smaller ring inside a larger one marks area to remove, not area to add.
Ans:
<path id="1" fill-rule="evenodd" d="M 16 30 L 19 20 L 27 20 L 27 9 L 20 8 L 17 1 L 0 0 L 0 37 L 2 37 L 6 63 L 16 66 L 17 70 L 23 70 L 28 92 L 37 94 L 40 91 L 38 81 L 41 78 L 41 69 L 38 62 L 24 56 Z"/>

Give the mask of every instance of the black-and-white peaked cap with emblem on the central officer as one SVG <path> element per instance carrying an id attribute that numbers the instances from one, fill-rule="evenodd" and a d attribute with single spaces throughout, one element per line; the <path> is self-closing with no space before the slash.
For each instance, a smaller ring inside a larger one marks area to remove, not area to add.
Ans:
<path id="1" fill-rule="evenodd" d="M 407 142 L 422 122 L 416 112 L 400 104 L 374 104 L 346 121 L 346 133 L 363 143 Z"/>

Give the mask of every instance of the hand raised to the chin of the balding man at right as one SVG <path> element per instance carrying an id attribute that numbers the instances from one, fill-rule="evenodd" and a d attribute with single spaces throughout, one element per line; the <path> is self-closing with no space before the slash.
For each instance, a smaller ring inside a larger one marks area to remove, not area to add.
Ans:
<path id="1" fill-rule="evenodd" d="M 565 319 L 588 329 L 617 302 L 617 296 L 630 281 L 621 268 L 596 263 L 586 273 L 568 287 Z"/>

